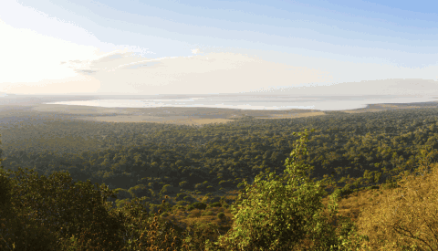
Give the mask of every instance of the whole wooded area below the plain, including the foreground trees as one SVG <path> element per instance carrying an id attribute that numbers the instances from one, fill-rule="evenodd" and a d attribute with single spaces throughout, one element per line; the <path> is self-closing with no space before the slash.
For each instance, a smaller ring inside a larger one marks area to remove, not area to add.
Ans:
<path id="1" fill-rule="evenodd" d="M 325 113 L 4 123 L 0 250 L 438 250 L 438 109 Z"/>

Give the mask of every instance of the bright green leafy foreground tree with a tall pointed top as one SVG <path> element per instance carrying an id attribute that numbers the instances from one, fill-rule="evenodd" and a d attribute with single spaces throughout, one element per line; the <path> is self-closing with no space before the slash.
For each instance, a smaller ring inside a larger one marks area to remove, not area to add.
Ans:
<path id="1" fill-rule="evenodd" d="M 308 131 L 298 135 L 302 136 L 286 160 L 284 174 L 260 173 L 253 183 L 244 182 L 244 193 L 232 208 L 233 228 L 216 246 L 225 250 L 329 250 L 339 245 L 336 228 L 330 224 L 337 213 L 338 193 L 332 196 L 327 216 L 323 183 L 310 179 Z"/>

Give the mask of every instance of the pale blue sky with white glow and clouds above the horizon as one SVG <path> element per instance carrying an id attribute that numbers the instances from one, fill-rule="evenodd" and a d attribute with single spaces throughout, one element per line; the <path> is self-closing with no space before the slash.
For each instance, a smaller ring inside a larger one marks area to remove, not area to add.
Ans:
<path id="1" fill-rule="evenodd" d="M 434 89 L 437 10 L 437 1 L 2 0 L 0 91 L 212 94 L 342 84 L 360 93 L 351 87 L 386 79 L 423 79 Z"/>

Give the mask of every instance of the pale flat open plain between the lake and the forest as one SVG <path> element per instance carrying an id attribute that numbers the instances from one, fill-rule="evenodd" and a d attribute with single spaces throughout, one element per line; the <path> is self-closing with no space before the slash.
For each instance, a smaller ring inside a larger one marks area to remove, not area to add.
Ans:
<path id="1" fill-rule="evenodd" d="M 415 104 L 371 104 L 356 110 L 341 110 L 345 113 L 377 112 L 382 110 L 404 110 L 436 108 L 438 103 Z M 234 110 L 214 108 L 103 108 L 54 104 L 34 104 L 32 106 L 9 106 L 0 110 L 2 118 L 23 116 L 57 117 L 69 120 L 91 120 L 105 122 L 155 122 L 181 125 L 226 123 L 245 116 L 255 119 L 294 119 L 324 116 L 329 111 L 322 110 Z"/>

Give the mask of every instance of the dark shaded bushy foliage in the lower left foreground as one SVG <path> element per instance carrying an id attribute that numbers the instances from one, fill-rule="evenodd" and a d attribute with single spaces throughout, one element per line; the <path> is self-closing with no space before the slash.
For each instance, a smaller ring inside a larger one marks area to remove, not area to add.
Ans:
<path id="1" fill-rule="evenodd" d="M 52 250 L 47 246 L 55 248 L 61 245 L 58 240 L 76 235 L 90 240 L 88 246 L 95 246 L 121 229 L 107 202 L 108 197 L 115 197 L 114 193 L 104 184 L 93 187 L 91 183 L 74 183 L 68 173 L 46 177 L 18 169 L 4 175 L 13 183 L 9 215 L 1 214 L 6 223 L 2 235 L 5 239 L 14 236 L 5 245 L 15 243 L 20 250 L 28 246 L 39 248 L 31 250 Z M 107 239 L 106 248 L 120 247 L 120 240 L 119 246 L 115 244 L 117 238 L 111 240 L 110 244 Z"/>

